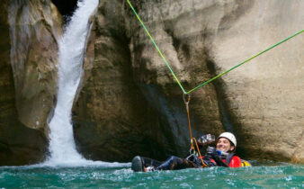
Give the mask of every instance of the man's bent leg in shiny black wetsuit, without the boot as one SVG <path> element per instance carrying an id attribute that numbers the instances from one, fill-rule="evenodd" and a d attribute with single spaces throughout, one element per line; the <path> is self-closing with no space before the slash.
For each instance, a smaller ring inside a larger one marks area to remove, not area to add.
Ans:
<path id="1" fill-rule="evenodd" d="M 181 157 L 169 157 L 162 165 L 157 166 L 156 170 L 177 170 L 183 168 L 197 167 L 193 162 Z"/>

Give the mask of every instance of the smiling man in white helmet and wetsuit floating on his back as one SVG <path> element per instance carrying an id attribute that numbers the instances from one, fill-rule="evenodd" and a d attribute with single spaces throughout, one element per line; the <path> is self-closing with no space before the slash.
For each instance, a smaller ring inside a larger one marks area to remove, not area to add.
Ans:
<path id="1" fill-rule="evenodd" d="M 213 135 L 203 135 L 198 139 L 198 147 L 214 141 Z M 134 172 L 148 172 L 154 170 L 178 170 L 183 168 L 199 168 L 206 166 L 241 167 L 251 166 L 247 161 L 237 157 L 235 151 L 237 139 L 231 132 L 223 132 L 219 135 L 216 148 L 208 147 L 205 156 L 199 157 L 194 149 L 186 158 L 169 157 L 165 162 L 157 161 L 148 157 L 134 157 L 131 169 Z"/>

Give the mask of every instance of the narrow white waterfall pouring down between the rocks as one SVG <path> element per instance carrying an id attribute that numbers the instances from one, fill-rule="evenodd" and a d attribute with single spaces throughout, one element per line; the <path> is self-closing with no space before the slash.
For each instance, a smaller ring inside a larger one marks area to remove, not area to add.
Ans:
<path id="1" fill-rule="evenodd" d="M 66 31 L 59 41 L 58 98 L 49 122 L 49 152 L 46 163 L 69 164 L 85 161 L 76 150 L 71 111 L 76 90 L 83 76 L 85 42 L 90 31 L 89 18 L 98 0 L 78 1 Z"/>

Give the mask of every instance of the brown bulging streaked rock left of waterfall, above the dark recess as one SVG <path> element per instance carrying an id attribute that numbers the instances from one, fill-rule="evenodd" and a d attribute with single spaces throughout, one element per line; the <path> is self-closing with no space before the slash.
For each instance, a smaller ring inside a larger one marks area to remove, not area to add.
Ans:
<path id="1" fill-rule="evenodd" d="M 47 132 L 56 96 L 61 17 L 50 1 L 12 1 L 9 10 L 18 118 L 29 128 Z"/>

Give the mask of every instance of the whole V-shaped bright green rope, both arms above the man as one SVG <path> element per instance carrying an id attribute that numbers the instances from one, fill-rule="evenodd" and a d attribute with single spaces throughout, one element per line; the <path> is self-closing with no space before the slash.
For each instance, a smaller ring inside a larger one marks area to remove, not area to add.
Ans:
<path id="1" fill-rule="evenodd" d="M 127 2 L 128 2 L 128 4 L 130 4 L 130 1 L 129 1 L 129 0 L 127 0 Z M 288 38 L 286 38 L 285 40 L 282 40 L 282 41 L 276 43 L 276 44 L 273 45 L 272 47 L 270 47 L 270 48 L 268 48 L 268 49 L 265 49 L 265 50 L 263 50 L 262 52 L 257 53 L 257 54 L 256 54 L 255 56 L 253 56 L 252 58 L 246 59 L 245 61 L 241 62 L 241 63 L 238 64 L 237 66 L 231 67 L 231 68 L 229 68 L 228 70 L 224 71 L 223 73 L 219 74 L 218 76 L 214 76 L 214 77 L 210 78 L 210 80 L 208 80 L 208 81 L 202 83 L 201 85 L 198 85 L 198 86 L 192 88 L 190 91 L 185 92 L 185 90 L 183 89 L 183 86 L 181 85 L 181 83 L 179 82 L 179 80 L 177 79 L 177 77 L 175 76 L 174 71 L 173 71 L 172 68 L 169 66 L 168 62 L 166 61 L 166 59 L 165 59 L 164 55 L 162 54 L 162 52 L 160 51 L 160 49 L 158 49 L 155 40 L 152 38 L 152 36 L 151 36 L 150 33 L 148 32 L 148 30 L 147 30 L 145 24 L 142 23 L 142 21 L 140 20 L 139 15 L 136 13 L 136 11 L 135 11 L 135 9 L 133 8 L 132 4 L 130 4 L 130 7 L 131 7 L 131 9 L 133 10 L 134 14 L 138 17 L 139 22 L 141 23 L 141 25 L 143 26 L 143 28 L 144 28 L 145 31 L 147 32 L 147 34 L 148 34 L 150 40 L 153 42 L 153 44 L 154 44 L 154 46 L 156 47 L 158 53 L 160 54 L 160 56 L 161 56 L 161 57 L 163 58 L 163 60 L 165 61 L 166 66 L 170 69 L 170 71 L 171 71 L 172 75 L 174 76 L 174 79 L 176 80 L 177 84 L 180 85 L 181 89 L 183 90 L 183 94 L 191 94 L 193 91 L 195 91 L 196 89 L 200 88 L 201 86 L 206 85 L 206 84 L 209 84 L 211 81 L 215 80 L 215 79 L 218 78 L 219 76 L 223 76 L 224 74 L 227 74 L 227 73 L 228 73 L 229 71 L 231 71 L 232 69 L 235 69 L 235 68 L 237 68 L 237 67 L 239 67 L 239 66 L 245 64 L 245 63 L 248 62 L 249 60 L 251 60 L 251 59 L 253 59 L 253 58 L 256 58 L 256 57 L 260 56 L 260 55 L 263 54 L 264 52 L 266 52 L 266 51 L 268 51 L 268 50 L 270 50 L 270 49 L 273 49 L 274 47 L 280 45 L 282 42 L 285 42 L 286 40 L 290 40 L 290 39 L 293 38 L 294 36 L 296 36 L 296 35 L 298 35 L 298 34 L 300 34 L 301 32 L 304 31 L 304 30 L 301 30 L 301 31 L 299 31 L 299 32 L 296 32 L 295 34 L 291 35 L 291 37 L 288 37 Z"/>

